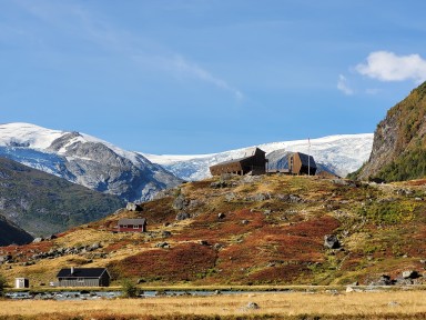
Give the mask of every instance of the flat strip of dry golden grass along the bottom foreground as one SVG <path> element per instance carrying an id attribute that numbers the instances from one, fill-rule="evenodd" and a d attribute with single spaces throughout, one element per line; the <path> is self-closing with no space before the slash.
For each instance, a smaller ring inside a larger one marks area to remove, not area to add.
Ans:
<path id="1" fill-rule="evenodd" d="M 0 319 L 426 319 L 426 291 L 0 301 Z M 250 302 L 258 309 L 250 308 Z"/>

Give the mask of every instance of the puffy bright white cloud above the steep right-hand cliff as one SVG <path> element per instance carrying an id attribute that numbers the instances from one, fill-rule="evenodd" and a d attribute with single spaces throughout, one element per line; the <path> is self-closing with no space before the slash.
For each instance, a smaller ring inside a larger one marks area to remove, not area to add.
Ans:
<path id="1" fill-rule="evenodd" d="M 388 51 L 369 53 L 365 63 L 356 66 L 356 71 L 381 81 L 415 82 L 426 80 L 426 60 L 418 54 L 397 56 Z"/>

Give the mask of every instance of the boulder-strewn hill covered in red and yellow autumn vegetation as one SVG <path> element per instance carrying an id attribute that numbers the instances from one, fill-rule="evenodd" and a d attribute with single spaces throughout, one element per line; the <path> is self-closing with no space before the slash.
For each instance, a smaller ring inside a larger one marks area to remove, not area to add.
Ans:
<path id="1" fill-rule="evenodd" d="M 212 178 L 53 240 L 0 248 L 9 257 L 0 273 L 34 287 L 70 266 L 106 267 L 113 284 L 425 283 L 425 198 L 420 180 Z M 116 232 L 119 219 L 138 217 L 148 232 Z"/>

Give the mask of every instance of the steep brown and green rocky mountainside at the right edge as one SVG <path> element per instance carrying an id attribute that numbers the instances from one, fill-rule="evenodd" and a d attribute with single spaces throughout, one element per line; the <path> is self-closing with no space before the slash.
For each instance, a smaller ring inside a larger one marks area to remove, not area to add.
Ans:
<path id="1" fill-rule="evenodd" d="M 426 82 L 388 110 L 377 124 L 359 179 L 403 181 L 426 176 Z"/>

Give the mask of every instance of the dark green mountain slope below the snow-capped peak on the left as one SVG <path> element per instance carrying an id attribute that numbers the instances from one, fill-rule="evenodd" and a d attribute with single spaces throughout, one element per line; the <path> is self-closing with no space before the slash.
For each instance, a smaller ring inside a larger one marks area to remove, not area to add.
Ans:
<path id="1" fill-rule="evenodd" d="M 116 196 L 0 158 L 0 214 L 33 236 L 48 236 L 98 220 L 123 203 Z M 6 240 L 3 234 L 0 237 Z"/>

